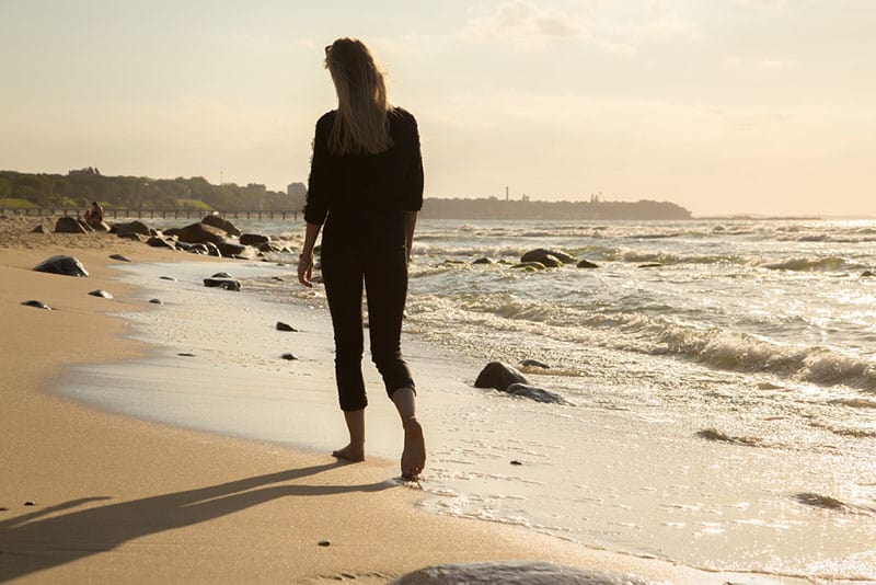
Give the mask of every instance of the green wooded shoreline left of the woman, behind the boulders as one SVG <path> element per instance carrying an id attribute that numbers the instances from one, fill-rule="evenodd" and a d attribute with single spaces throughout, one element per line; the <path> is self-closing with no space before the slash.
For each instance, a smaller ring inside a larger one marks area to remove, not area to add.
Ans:
<path id="1" fill-rule="evenodd" d="M 66 175 L 0 171 L 0 204 L 5 207 L 84 209 L 94 200 L 111 209 L 293 209 L 286 193 L 264 185 L 212 185 L 201 176 L 105 176 L 92 168 Z"/>

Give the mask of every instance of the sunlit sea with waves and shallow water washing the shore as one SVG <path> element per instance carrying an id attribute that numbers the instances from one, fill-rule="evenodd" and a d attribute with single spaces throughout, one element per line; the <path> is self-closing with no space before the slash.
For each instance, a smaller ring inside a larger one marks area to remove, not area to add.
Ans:
<path id="1" fill-rule="evenodd" d="M 235 223 L 287 240 L 303 230 Z M 596 267 L 516 267 L 534 249 Z M 301 377 L 331 360 L 332 339 L 296 254 L 222 264 L 240 292 L 204 288 L 203 263 L 119 267 L 143 299 L 164 296 L 123 311 L 164 351 L 79 371 L 61 391 L 170 424 L 341 446 L 343 427 L 313 414 L 337 416 L 333 379 Z M 293 337 L 253 323 L 290 319 L 309 336 L 280 364 Z M 876 582 L 876 220 L 420 220 L 403 346 L 429 441 L 414 487 L 428 513 L 705 570 Z M 200 366 L 180 357 L 192 347 Z M 475 388 L 489 362 L 567 403 Z M 397 426 L 366 368 L 377 424 Z M 193 390 L 205 371 L 209 388 Z M 307 388 L 290 394 L 291 379 Z M 373 441 L 388 458 L 396 446 Z"/>

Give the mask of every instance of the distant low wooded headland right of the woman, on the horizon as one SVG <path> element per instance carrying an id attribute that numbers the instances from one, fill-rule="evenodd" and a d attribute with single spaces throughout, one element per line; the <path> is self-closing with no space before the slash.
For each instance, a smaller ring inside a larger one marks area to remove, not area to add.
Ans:
<path id="1" fill-rule="evenodd" d="M 430 219 L 690 219 L 668 202 L 533 202 L 428 198 L 422 216 Z"/>

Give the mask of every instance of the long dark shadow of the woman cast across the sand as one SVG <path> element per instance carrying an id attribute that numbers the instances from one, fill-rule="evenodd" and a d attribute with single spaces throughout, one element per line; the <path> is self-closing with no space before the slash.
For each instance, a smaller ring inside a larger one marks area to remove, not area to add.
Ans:
<path id="1" fill-rule="evenodd" d="M 147 535 L 191 526 L 285 496 L 379 492 L 393 481 L 361 485 L 273 485 L 344 464 L 291 469 L 185 492 L 54 515 L 110 497 L 84 497 L 0 521 L 0 581 L 14 580 Z M 264 486 L 264 487 L 261 487 Z M 260 487 L 260 489 L 255 489 Z M 53 514 L 49 518 L 42 518 Z"/>

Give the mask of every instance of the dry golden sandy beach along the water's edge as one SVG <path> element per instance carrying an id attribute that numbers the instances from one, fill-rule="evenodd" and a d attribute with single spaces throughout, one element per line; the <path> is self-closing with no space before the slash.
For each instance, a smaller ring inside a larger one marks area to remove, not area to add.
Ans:
<path id="1" fill-rule="evenodd" d="M 426 514 L 415 506 L 418 490 L 396 480 L 395 461 L 339 464 L 323 452 L 169 427 L 56 395 L 49 389 L 73 366 L 125 364 L 152 351 L 114 316 L 146 303 L 119 282 L 110 254 L 138 263 L 199 256 L 111 234 L 31 233 L 36 223 L 0 219 L 0 581 L 387 583 L 435 564 L 521 560 L 667 583 L 781 582 Z M 55 254 L 74 255 L 91 276 L 33 271 Z M 94 289 L 115 298 L 88 295 Z M 55 310 L 22 305 L 31 299 Z M 331 364 L 320 367 L 331 372 Z"/>

